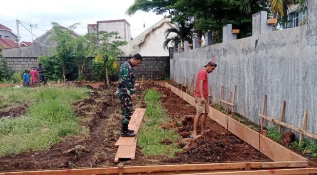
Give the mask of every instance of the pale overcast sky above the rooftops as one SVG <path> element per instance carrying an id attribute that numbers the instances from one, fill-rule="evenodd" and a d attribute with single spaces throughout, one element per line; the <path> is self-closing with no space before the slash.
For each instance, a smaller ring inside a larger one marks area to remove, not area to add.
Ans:
<path id="1" fill-rule="evenodd" d="M 87 24 L 95 24 L 99 20 L 126 19 L 131 25 L 131 35 L 136 37 L 146 28 L 155 24 L 163 16 L 153 12 L 138 11 L 132 17 L 125 15 L 134 0 L 1 0 L 0 23 L 17 33 L 16 19 L 31 31 L 40 36 L 51 29 L 51 22 L 58 22 L 68 27 L 80 22 L 75 29 L 78 34 L 87 33 Z M 145 22 L 145 28 L 143 28 Z M 31 33 L 19 25 L 20 41 L 32 41 Z M 33 40 L 36 38 L 33 36 Z"/>

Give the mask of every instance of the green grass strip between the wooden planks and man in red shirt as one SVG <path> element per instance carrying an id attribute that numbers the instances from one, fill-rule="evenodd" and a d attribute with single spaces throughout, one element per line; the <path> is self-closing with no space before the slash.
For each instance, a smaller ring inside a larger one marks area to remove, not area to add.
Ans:
<path id="1" fill-rule="evenodd" d="M 164 111 L 159 102 L 160 94 L 155 90 L 148 90 L 144 101 L 146 103 L 145 123 L 140 127 L 138 136 L 138 145 L 142 152 L 148 156 L 168 156 L 174 157 L 175 153 L 181 152 L 175 141 L 181 140 L 181 137 L 174 130 L 164 130 L 158 127 L 171 120 Z M 170 145 L 161 144 L 163 139 L 173 141 Z"/>

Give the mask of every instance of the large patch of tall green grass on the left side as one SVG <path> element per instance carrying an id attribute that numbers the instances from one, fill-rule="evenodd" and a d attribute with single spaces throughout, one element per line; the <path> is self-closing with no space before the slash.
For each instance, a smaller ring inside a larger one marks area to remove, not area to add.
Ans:
<path id="1" fill-rule="evenodd" d="M 21 90 L 20 90 L 21 89 Z M 31 98 L 26 117 L 0 120 L 0 156 L 48 149 L 62 136 L 80 132 L 79 119 L 71 104 L 88 98 L 85 88 L 20 88 L 31 89 L 22 98 Z M 10 99 L 10 97 L 8 98 Z M 11 100 L 11 99 L 10 99 Z"/>

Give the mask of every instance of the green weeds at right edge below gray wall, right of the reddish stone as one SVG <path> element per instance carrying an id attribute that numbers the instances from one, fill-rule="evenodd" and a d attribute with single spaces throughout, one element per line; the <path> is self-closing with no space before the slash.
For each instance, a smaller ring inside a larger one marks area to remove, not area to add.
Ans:
<path id="1" fill-rule="evenodd" d="M 299 140 L 294 141 L 290 148 L 295 148 L 298 151 L 301 151 L 304 154 L 308 154 L 310 157 L 317 157 L 317 141 L 310 141 L 307 139 L 303 139 L 301 144 L 299 145 Z"/>

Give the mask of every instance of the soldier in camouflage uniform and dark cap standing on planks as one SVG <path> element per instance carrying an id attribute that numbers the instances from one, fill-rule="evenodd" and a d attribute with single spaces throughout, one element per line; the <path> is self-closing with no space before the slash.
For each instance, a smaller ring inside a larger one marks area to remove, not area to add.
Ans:
<path id="1" fill-rule="evenodd" d="M 128 124 L 133 113 L 132 101 L 136 99 L 136 94 L 133 89 L 135 84 L 133 67 L 138 66 L 141 62 L 142 56 L 137 53 L 120 67 L 118 96 L 121 101 L 122 110 L 121 137 L 136 136 L 133 130 L 128 129 Z"/>

